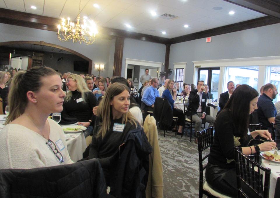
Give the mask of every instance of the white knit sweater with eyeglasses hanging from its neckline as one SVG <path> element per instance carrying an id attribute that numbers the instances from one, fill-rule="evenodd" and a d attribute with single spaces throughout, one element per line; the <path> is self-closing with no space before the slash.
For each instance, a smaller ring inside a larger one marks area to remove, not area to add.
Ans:
<path id="1" fill-rule="evenodd" d="M 64 162 L 60 163 L 53 151 L 46 145 L 46 140 L 38 133 L 18 124 L 7 124 L 0 131 L 0 169 L 31 169 L 46 166 L 74 163 L 67 151 L 62 128 L 53 120 L 50 125 L 50 140 L 54 143 L 62 140 L 65 148 L 60 150 Z"/>

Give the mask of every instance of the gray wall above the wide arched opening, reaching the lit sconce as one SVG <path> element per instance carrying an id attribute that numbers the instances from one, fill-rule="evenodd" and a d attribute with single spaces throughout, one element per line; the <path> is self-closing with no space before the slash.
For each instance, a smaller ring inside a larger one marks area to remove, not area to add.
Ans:
<path id="1" fill-rule="evenodd" d="M 90 58 L 93 66 L 95 64 L 104 64 L 105 69 L 103 72 L 100 72 L 100 75 L 107 76 L 111 48 L 110 40 L 97 37 L 94 44 L 86 46 L 85 44 L 73 43 L 71 41 L 59 41 L 55 32 L 0 23 L 0 42 L 6 41 L 45 41 L 46 43 L 69 48 Z M 96 70 L 92 70 L 92 73 L 98 75 Z"/>

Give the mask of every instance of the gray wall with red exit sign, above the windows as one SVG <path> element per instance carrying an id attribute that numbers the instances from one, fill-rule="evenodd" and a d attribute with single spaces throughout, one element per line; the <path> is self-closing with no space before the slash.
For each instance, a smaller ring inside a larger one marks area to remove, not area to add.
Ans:
<path id="1" fill-rule="evenodd" d="M 280 55 L 280 24 L 268 25 L 239 32 L 173 44 L 170 47 L 169 68 L 175 62 L 187 62 L 185 82 L 192 83 L 192 61 L 250 58 Z M 173 79 L 174 71 L 170 76 Z"/>

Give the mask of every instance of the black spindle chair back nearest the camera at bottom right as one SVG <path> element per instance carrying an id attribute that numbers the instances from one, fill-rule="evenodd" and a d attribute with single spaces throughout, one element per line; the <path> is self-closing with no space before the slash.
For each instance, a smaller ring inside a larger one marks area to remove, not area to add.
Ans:
<path id="1" fill-rule="evenodd" d="M 238 197 L 252 197 L 252 194 L 245 194 L 241 188 L 241 183 L 244 183 L 251 188 L 258 197 L 269 197 L 269 183 L 271 169 L 264 168 L 254 160 L 250 159 L 234 147 L 234 160 L 236 168 L 237 190 Z M 262 174 L 265 173 L 264 185 L 262 185 Z M 263 193 L 262 193 L 263 192 Z"/>

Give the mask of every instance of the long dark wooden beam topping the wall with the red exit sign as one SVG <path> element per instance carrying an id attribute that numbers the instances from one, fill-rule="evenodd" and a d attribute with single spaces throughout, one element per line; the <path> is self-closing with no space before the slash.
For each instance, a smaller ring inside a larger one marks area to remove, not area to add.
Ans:
<path id="1" fill-rule="evenodd" d="M 202 39 L 206 37 L 217 36 L 220 34 L 227 34 L 230 32 L 237 32 L 245 29 L 251 29 L 255 27 L 261 27 L 264 25 L 272 25 L 279 23 L 280 19 L 272 18 L 270 16 L 265 16 L 257 19 L 252 19 L 244 22 L 234 23 L 231 25 L 225 25 L 222 27 L 216 27 L 213 29 L 208 29 L 201 32 L 196 32 L 193 34 L 187 34 L 181 37 L 175 37 L 169 40 L 170 44 L 181 43 L 185 41 L 191 41 L 195 39 Z"/>

